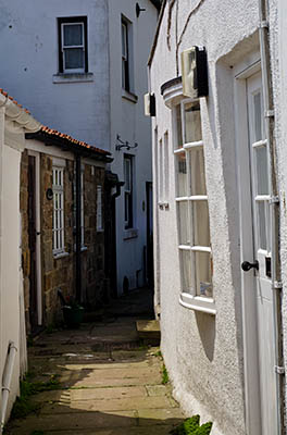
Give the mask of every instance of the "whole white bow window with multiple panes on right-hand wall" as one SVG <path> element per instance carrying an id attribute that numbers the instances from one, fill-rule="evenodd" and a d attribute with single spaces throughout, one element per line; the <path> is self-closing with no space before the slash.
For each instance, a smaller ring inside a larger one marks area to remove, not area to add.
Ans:
<path id="1" fill-rule="evenodd" d="M 199 101 L 184 100 L 174 115 L 180 302 L 212 313 L 212 251 Z"/>

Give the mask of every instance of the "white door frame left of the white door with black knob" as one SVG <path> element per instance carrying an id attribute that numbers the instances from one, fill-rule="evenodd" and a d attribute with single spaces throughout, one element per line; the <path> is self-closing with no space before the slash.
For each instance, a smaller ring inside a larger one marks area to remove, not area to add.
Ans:
<path id="1" fill-rule="evenodd" d="M 248 203 L 252 203 L 246 79 L 260 69 L 260 55 L 254 53 L 249 60 L 238 64 L 234 74 L 240 258 L 249 261 L 252 261 L 254 252 L 250 244 L 253 239 L 252 209 L 246 207 L 244 201 L 245 197 Z M 246 431 L 248 435 L 261 435 L 257 291 L 255 289 L 252 291 L 253 287 L 253 275 L 241 271 Z"/>

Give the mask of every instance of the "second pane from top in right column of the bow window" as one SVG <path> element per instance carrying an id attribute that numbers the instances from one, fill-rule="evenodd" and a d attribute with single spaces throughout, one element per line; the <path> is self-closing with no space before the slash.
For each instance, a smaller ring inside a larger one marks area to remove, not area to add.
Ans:
<path id="1" fill-rule="evenodd" d="M 203 147 L 189 151 L 191 195 L 207 195 Z"/>

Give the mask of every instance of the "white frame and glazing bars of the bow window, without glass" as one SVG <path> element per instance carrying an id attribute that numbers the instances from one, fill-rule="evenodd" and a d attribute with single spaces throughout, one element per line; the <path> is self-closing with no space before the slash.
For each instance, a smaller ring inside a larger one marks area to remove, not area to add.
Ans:
<path id="1" fill-rule="evenodd" d="M 189 102 L 197 102 L 200 100 L 194 100 L 194 99 L 183 99 L 180 101 L 180 125 L 182 125 L 182 137 L 183 137 L 183 146 L 182 148 L 177 148 L 178 144 L 177 144 L 177 137 L 178 137 L 178 132 L 177 132 L 177 122 L 176 122 L 176 110 L 177 110 L 177 105 L 174 107 L 173 109 L 173 119 L 174 119 L 174 129 L 176 132 L 176 134 L 174 135 L 174 160 L 175 160 L 175 184 L 176 184 L 176 189 L 178 187 L 178 181 L 177 181 L 177 165 L 176 165 L 176 158 L 177 154 L 179 153 L 185 153 L 186 157 L 186 166 L 187 166 L 187 181 L 188 181 L 188 185 L 190 186 L 190 154 L 189 154 L 189 150 L 190 149 L 203 149 L 203 154 L 204 154 L 204 146 L 203 146 L 203 140 L 197 140 L 194 142 L 187 142 L 185 141 L 185 116 L 184 116 L 184 108 L 185 104 L 189 103 Z M 176 194 L 177 195 L 177 194 Z M 176 208 L 177 204 L 179 202 L 187 202 L 188 203 L 188 222 L 190 223 L 190 234 L 191 237 L 190 239 L 194 239 L 194 227 L 192 227 L 192 223 L 191 223 L 191 219 L 190 219 L 190 207 L 192 207 L 192 203 L 195 201 L 207 201 L 208 202 L 208 195 L 191 195 L 191 196 L 176 196 L 175 198 L 175 202 L 176 202 Z M 178 219 L 178 210 L 176 211 L 176 215 L 177 215 L 177 234 L 178 234 L 178 240 L 179 240 L 179 219 Z M 212 262 L 212 249 L 211 246 L 196 246 L 194 245 L 191 241 L 189 243 L 189 245 L 180 245 L 178 241 L 178 254 L 179 254 L 179 265 L 180 265 L 180 282 L 183 283 L 183 262 L 180 259 L 180 252 L 187 250 L 190 252 L 190 257 L 191 257 L 191 262 L 192 262 L 192 271 L 195 271 L 196 269 L 196 253 L 197 252 L 208 252 L 211 256 L 211 262 Z M 211 277 L 212 281 L 212 277 Z M 216 314 L 216 308 L 215 308 L 215 301 L 214 301 L 214 295 L 212 294 L 212 297 L 207 297 L 207 296 L 198 296 L 197 295 L 197 284 L 196 284 L 196 278 L 195 278 L 195 272 L 191 275 L 191 288 L 189 289 L 189 291 L 184 291 L 183 290 L 183 285 L 182 286 L 182 293 L 179 296 L 179 303 L 188 309 L 192 309 L 196 311 L 202 311 L 209 314 Z M 211 283 L 212 285 L 212 283 Z"/>

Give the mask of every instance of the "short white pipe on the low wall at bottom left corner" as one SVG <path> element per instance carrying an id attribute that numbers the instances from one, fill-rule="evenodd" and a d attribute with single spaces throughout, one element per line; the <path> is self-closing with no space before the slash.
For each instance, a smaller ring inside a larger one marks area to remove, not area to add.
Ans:
<path id="1" fill-rule="evenodd" d="M 10 341 L 8 347 L 7 363 L 2 380 L 1 430 L 0 430 L 1 434 L 3 433 L 3 427 L 5 423 L 8 399 L 10 394 L 10 385 L 12 381 L 15 358 L 16 358 L 16 351 L 17 348 L 15 344 L 13 341 Z"/>

